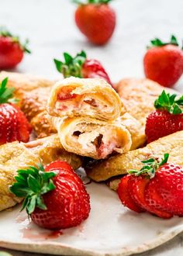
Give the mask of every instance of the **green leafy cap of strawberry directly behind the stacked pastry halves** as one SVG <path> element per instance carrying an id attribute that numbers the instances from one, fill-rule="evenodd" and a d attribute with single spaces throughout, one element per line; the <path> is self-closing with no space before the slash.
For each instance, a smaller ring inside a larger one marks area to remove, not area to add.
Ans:
<path id="1" fill-rule="evenodd" d="M 57 67 L 57 71 L 64 75 L 64 78 L 74 76 L 76 78 L 82 78 L 81 69 L 82 65 L 86 61 L 85 51 L 72 57 L 70 54 L 64 53 L 64 62 L 54 59 L 54 63 Z"/>

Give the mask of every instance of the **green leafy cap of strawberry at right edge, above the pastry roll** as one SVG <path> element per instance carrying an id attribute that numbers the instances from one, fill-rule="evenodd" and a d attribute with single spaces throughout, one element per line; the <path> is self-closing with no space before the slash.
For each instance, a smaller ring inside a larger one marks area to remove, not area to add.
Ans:
<path id="1" fill-rule="evenodd" d="M 166 93 L 163 91 L 154 102 L 156 109 L 166 110 L 167 112 L 178 115 L 183 113 L 183 95 Z"/>

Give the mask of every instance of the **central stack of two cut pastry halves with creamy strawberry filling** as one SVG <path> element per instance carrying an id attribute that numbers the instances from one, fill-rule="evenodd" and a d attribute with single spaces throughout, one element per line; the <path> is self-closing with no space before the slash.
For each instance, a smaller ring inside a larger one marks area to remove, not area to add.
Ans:
<path id="1" fill-rule="evenodd" d="M 132 140 L 120 116 L 119 95 L 102 79 L 66 78 L 51 90 L 47 112 L 64 149 L 104 159 L 129 151 Z"/>

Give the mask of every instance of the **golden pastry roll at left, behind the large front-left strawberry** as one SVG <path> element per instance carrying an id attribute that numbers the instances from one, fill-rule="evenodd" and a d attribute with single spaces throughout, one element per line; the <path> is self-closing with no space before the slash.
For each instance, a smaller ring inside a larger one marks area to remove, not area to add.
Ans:
<path id="1" fill-rule="evenodd" d="M 36 166 L 40 161 L 49 164 L 57 159 L 67 161 L 74 169 L 81 166 L 81 157 L 65 151 L 57 135 L 28 144 L 12 142 L 0 146 L 0 211 L 21 201 L 9 192 L 17 170 L 29 165 Z"/>

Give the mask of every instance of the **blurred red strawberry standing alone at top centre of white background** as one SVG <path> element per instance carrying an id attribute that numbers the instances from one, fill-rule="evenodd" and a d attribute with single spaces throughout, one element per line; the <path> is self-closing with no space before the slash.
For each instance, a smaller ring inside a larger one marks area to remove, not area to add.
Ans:
<path id="1" fill-rule="evenodd" d="M 88 0 L 79 4 L 75 22 L 91 43 L 105 44 L 112 37 L 116 27 L 116 13 L 109 6 L 111 0 Z"/>

